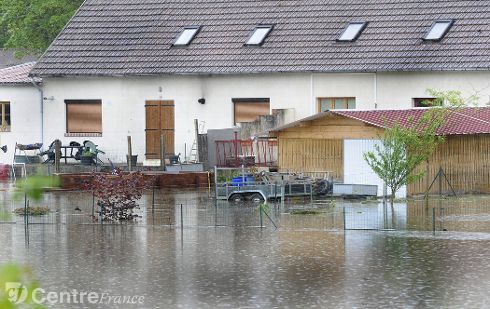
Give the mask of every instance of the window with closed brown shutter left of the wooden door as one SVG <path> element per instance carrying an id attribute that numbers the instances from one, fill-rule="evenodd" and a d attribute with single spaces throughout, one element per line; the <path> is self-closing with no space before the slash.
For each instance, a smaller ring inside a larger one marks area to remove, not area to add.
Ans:
<path id="1" fill-rule="evenodd" d="M 102 134 L 101 100 L 65 100 L 66 133 Z"/>

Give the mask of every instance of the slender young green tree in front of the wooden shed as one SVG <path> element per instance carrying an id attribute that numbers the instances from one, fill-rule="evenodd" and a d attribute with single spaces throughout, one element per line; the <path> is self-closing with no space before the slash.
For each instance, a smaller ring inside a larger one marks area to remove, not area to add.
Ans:
<path id="1" fill-rule="evenodd" d="M 402 186 L 425 175 L 425 171 L 416 171 L 416 168 L 444 142 L 444 137 L 437 135 L 437 130 L 452 113 L 477 100 L 475 96 L 465 99 L 459 91 L 428 90 L 428 93 L 435 98 L 427 102 L 432 108 L 419 119 L 408 119 L 407 125 L 387 121 L 387 128 L 380 136 L 381 143 L 374 146 L 374 151 L 363 154 L 369 167 L 390 188 L 392 204 Z"/>

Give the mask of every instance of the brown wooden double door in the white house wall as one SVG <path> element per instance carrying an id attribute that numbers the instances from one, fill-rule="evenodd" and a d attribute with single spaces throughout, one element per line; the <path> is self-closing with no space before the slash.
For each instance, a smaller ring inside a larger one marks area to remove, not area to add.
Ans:
<path id="1" fill-rule="evenodd" d="M 174 101 L 146 101 L 146 158 L 160 159 L 160 135 L 165 135 L 165 153 L 174 154 Z"/>

